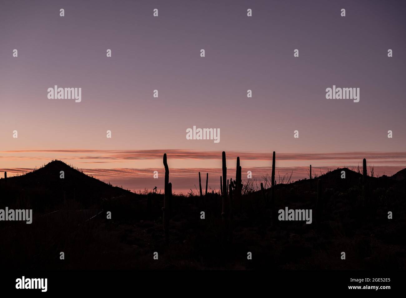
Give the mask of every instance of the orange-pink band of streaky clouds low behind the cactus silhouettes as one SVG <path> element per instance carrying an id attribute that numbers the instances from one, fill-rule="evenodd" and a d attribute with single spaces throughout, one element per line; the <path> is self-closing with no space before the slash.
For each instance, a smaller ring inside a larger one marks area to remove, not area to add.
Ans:
<path id="1" fill-rule="evenodd" d="M 49 154 L 63 153 L 60 157 L 52 158 Z M 63 161 L 67 165 L 76 167 L 98 180 L 123 187 L 130 191 L 139 192 L 145 189 L 163 192 L 164 166 L 163 153 L 168 155 L 168 165 L 173 182 L 174 193 L 189 193 L 199 191 L 199 176 L 202 176 L 202 188 L 205 189 L 205 175 L 209 174 L 208 189 L 218 191 L 221 173 L 221 152 L 201 150 L 11 150 L 0 151 L 2 167 L 0 172 L 7 172 L 8 177 L 30 172 L 46 165 L 52 160 Z M 35 156 L 30 156 L 36 153 Z M 41 155 L 39 157 L 38 155 Z M 85 155 L 83 155 L 85 154 Z M 242 166 L 242 180 L 247 182 L 247 171 L 252 172 L 252 179 L 257 183 L 263 177 L 270 175 L 272 167 L 272 153 L 268 152 L 226 152 L 227 179 L 235 179 L 236 157 L 240 157 Z M 362 159 L 367 159 L 367 171 L 370 175 L 373 168 L 374 176 L 392 176 L 406 168 L 406 152 L 335 152 L 335 153 L 277 153 L 276 152 L 276 181 L 287 182 L 309 178 L 309 165 L 312 165 L 312 176 L 320 176 L 337 168 L 347 167 L 355 172 Z M 18 160 L 18 161 L 17 161 Z M 38 161 L 41 161 L 38 164 Z M 205 167 L 195 167 L 204 161 Z M 26 166 L 15 167 L 15 164 Z M 133 167 L 117 167 L 117 165 L 133 165 Z M 156 167 L 145 167 L 154 164 Z M 4 165 L 7 165 L 6 167 Z M 89 167 L 90 165 L 90 167 Z M 103 165 L 96 167 L 95 165 Z M 144 165 L 136 166 L 136 165 Z M 192 165 L 191 167 L 183 167 Z M 209 165 L 209 167 L 207 166 Z M 154 171 L 158 171 L 158 178 L 153 178 Z M 244 175 L 245 173 L 245 175 Z M 284 178 L 284 176 L 287 176 Z M 2 178 L 2 176 L 1 176 Z"/>

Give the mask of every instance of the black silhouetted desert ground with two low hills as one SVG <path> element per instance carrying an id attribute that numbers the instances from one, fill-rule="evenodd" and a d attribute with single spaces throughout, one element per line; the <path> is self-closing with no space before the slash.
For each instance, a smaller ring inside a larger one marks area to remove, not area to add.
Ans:
<path id="1" fill-rule="evenodd" d="M 33 210 L 32 224 L 0 221 L 0 263 L 13 269 L 405 269 L 405 174 L 367 177 L 363 187 L 362 175 L 344 168 L 277 184 L 273 199 L 271 189 L 234 197 L 233 221 L 229 216 L 226 223 L 219 194 L 174 195 L 166 243 L 163 195 L 150 194 L 147 204 L 148 195 L 53 161 L 0 179 L 0 208 Z M 312 209 L 312 223 L 279 221 L 285 207 Z"/>

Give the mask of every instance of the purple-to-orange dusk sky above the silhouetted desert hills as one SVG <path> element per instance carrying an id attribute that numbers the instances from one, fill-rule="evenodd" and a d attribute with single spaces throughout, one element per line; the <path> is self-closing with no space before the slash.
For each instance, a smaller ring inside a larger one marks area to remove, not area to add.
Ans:
<path id="1" fill-rule="evenodd" d="M 163 189 L 166 152 L 174 191 L 195 190 L 199 171 L 218 189 L 222 151 L 231 173 L 240 156 L 257 178 L 276 151 L 294 179 L 363 158 L 392 175 L 406 167 L 405 13 L 403 1 L 3 0 L 0 172 L 60 159 Z M 48 99 L 54 85 L 82 88 L 81 102 Z M 360 101 L 326 99 L 333 85 Z M 193 126 L 220 142 L 186 139 Z"/>

